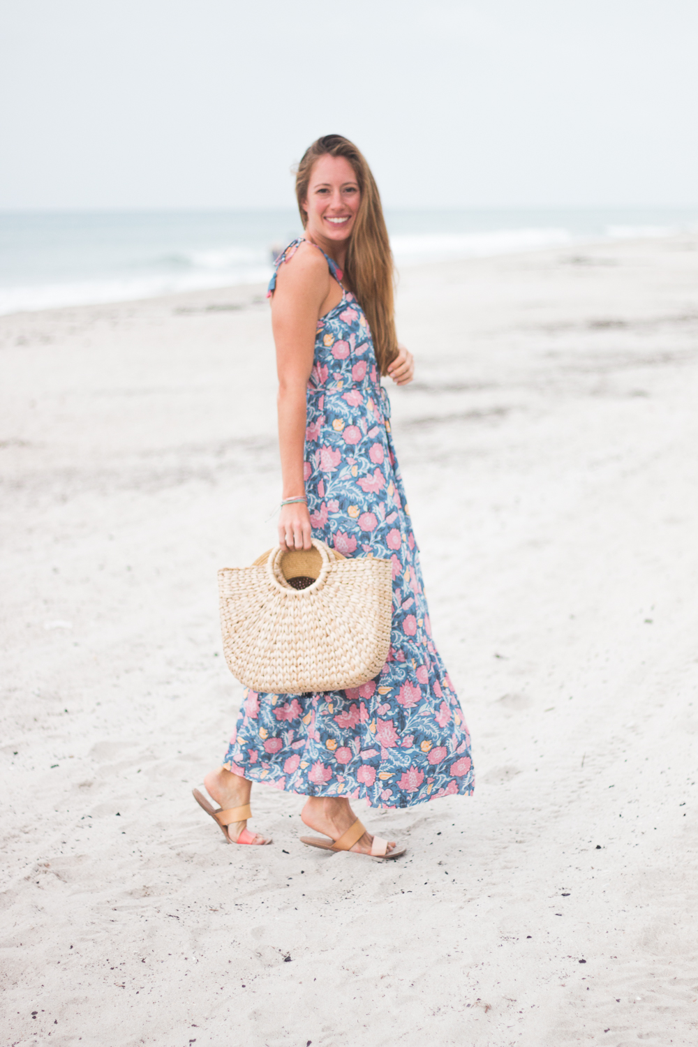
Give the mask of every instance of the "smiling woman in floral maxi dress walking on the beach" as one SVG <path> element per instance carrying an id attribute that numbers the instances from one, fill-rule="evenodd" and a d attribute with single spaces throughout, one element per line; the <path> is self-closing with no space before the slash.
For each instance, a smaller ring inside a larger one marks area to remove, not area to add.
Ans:
<path id="1" fill-rule="evenodd" d="M 335 850 L 403 853 L 366 832 L 350 801 L 407 807 L 470 794 L 470 738 L 431 640 L 418 548 L 392 447 L 381 375 L 412 380 L 398 346 L 392 259 L 378 188 L 358 149 L 318 138 L 296 176 L 305 236 L 269 285 L 278 371 L 283 549 L 311 536 L 345 556 L 392 563 L 391 646 L 380 675 L 318 694 L 248 691 L 224 764 L 204 779 L 230 843 L 271 841 L 247 829 L 253 781 L 308 797 L 301 819 Z"/>

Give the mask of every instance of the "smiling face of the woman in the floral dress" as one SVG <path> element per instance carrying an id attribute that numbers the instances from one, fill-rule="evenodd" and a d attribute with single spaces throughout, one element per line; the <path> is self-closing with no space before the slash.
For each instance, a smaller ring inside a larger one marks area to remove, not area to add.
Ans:
<path id="1" fill-rule="evenodd" d="M 354 168 L 343 156 L 320 156 L 313 164 L 308 195 L 306 232 L 311 240 L 347 240 L 359 213 L 361 193 Z"/>

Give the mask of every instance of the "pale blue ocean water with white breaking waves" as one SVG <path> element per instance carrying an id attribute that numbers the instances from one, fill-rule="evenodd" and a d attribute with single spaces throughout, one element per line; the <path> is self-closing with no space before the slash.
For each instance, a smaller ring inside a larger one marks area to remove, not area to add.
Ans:
<path id="1" fill-rule="evenodd" d="M 399 267 L 663 236 L 695 208 L 386 210 Z M 0 313 L 266 283 L 294 209 L 0 213 Z"/>

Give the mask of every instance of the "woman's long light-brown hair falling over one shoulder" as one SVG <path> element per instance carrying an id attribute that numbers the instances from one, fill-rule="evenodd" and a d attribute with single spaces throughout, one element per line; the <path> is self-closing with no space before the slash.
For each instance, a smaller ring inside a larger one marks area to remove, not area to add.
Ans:
<path id="1" fill-rule="evenodd" d="M 345 273 L 366 314 L 376 359 L 382 375 L 398 355 L 392 294 L 393 264 L 381 198 L 370 168 L 356 146 L 340 134 L 317 138 L 302 155 L 296 172 L 296 199 L 306 228 L 308 185 L 313 164 L 321 156 L 343 156 L 352 164 L 359 183 L 361 202 L 346 249 Z"/>

